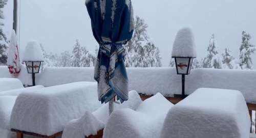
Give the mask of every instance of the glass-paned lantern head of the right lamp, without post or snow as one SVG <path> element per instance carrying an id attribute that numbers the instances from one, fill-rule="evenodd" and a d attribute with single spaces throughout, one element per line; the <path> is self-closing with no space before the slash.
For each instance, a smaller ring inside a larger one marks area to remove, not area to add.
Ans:
<path id="1" fill-rule="evenodd" d="M 176 58 L 178 74 L 187 74 L 189 58 Z"/>

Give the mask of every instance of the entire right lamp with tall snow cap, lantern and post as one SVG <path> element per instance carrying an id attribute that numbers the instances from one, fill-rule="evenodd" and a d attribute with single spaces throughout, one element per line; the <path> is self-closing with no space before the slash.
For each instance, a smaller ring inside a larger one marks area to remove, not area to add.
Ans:
<path id="1" fill-rule="evenodd" d="M 174 41 L 172 58 L 175 58 L 177 74 L 182 75 L 181 98 L 185 98 L 185 75 L 190 73 L 193 59 L 196 57 L 197 51 L 192 30 L 187 27 L 179 30 Z"/>

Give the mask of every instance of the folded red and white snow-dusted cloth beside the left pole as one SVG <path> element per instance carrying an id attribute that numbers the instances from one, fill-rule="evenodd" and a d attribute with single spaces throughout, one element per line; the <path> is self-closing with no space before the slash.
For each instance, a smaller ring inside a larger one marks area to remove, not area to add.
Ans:
<path id="1" fill-rule="evenodd" d="M 18 45 L 17 45 L 17 37 L 14 30 L 12 31 L 11 41 L 9 45 L 7 65 L 9 68 L 9 72 L 11 74 L 13 74 L 14 76 L 17 76 L 19 74 L 20 72 L 19 51 L 18 51 Z"/>

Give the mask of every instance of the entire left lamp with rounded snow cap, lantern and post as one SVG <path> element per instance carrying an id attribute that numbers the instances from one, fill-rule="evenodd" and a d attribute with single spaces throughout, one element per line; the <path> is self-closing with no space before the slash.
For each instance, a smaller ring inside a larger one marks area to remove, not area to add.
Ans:
<path id="1" fill-rule="evenodd" d="M 26 63 L 28 73 L 32 74 L 32 82 L 35 86 L 35 73 L 39 73 L 41 62 L 44 62 L 40 44 L 37 41 L 28 42 L 23 61 Z"/>

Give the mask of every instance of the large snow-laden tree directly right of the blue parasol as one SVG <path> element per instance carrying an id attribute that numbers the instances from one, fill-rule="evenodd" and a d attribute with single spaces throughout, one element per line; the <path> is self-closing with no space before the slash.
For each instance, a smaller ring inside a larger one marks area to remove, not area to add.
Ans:
<path id="1" fill-rule="evenodd" d="M 126 67 L 161 67 L 158 47 L 147 36 L 147 24 L 136 16 L 134 35 L 125 45 Z"/>

